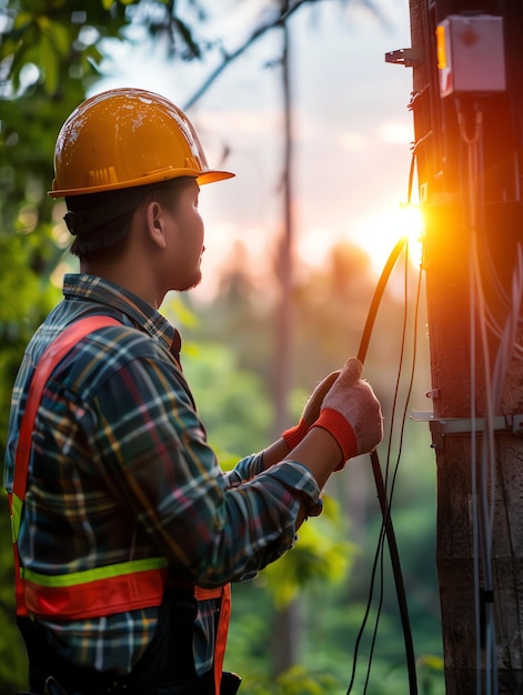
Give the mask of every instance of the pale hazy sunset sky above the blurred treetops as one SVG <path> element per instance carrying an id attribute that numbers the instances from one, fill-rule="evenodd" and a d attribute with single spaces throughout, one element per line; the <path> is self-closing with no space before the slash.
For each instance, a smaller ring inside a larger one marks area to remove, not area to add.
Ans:
<path id="1" fill-rule="evenodd" d="M 333 242 L 345 239 L 366 251 L 378 273 L 403 232 L 400 204 L 406 200 L 413 124 L 412 71 L 384 60 L 385 52 L 411 43 L 409 2 L 376 0 L 376 7 L 383 21 L 358 0 L 305 3 L 289 28 L 296 252 L 320 263 Z M 205 32 L 232 51 L 260 21 L 258 8 L 225 0 Z M 237 173 L 202 189 L 202 292 L 211 290 L 214 268 L 227 263 L 238 241 L 259 266 L 281 233 L 281 70 L 266 67 L 279 57 L 281 42 L 280 31 L 265 34 L 188 110 L 210 164 Z M 111 77 L 94 91 L 141 87 L 184 109 L 218 57 L 198 64 L 170 63 L 161 56 L 162 47 L 119 52 Z"/>

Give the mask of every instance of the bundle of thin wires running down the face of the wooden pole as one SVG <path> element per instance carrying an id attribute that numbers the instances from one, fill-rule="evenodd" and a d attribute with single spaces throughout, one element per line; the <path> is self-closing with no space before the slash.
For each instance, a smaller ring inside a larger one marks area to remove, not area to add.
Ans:
<path id="1" fill-rule="evenodd" d="M 512 270 L 510 293 L 503 288 L 495 264 L 492 262 L 489 245 L 482 244 L 484 187 L 483 187 L 483 113 L 481 104 L 472 104 L 474 128 L 470 135 L 466 130 L 465 112 L 456 103 L 457 124 L 465 147 L 466 158 L 462 181 L 464 209 L 471 239 L 469 266 L 470 282 L 470 383 L 471 383 L 471 484 L 472 484 L 472 536 L 474 574 L 474 620 L 475 620 L 475 671 L 477 695 L 497 695 L 497 647 L 494 625 L 494 581 L 492 545 L 494 532 L 494 505 L 496 497 L 496 456 L 494 417 L 503 395 L 511 359 L 522 352 L 517 345 L 520 309 L 523 298 L 523 251 L 516 243 L 515 261 Z M 505 308 L 505 323 L 501 325 L 486 301 L 484 273 L 480 259 L 486 259 L 489 280 L 497 292 L 500 304 Z M 496 353 L 491 367 L 490 338 L 496 342 Z M 484 432 L 479 459 L 476 444 L 476 354 L 483 360 Z M 479 465 L 477 465 L 479 462 Z M 481 573 L 483 586 L 481 586 Z M 483 656 L 482 656 L 483 654 Z M 483 669 L 482 669 L 483 664 Z"/>

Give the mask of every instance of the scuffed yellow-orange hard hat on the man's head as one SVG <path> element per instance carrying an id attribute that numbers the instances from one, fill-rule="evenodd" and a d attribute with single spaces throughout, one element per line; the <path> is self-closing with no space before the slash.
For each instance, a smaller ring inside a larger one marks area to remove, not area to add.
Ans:
<path id="1" fill-rule="evenodd" d="M 198 183 L 230 179 L 210 169 L 188 117 L 142 89 L 112 89 L 80 104 L 54 148 L 51 198 L 128 189 L 180 177 Z"/>

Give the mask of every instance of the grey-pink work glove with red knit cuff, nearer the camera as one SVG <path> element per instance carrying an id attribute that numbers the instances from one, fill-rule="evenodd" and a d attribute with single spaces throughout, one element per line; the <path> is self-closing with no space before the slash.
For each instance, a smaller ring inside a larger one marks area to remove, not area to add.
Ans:
<path id="1" fill-rule="evenodd" d="M 342 461 L 373 451 L 383 436 L 380 401 L 366 381 L 362 381 L 362 364 L 351 359 L 326 393 L 314 427 L 326 430 L 338 442 Z"/>

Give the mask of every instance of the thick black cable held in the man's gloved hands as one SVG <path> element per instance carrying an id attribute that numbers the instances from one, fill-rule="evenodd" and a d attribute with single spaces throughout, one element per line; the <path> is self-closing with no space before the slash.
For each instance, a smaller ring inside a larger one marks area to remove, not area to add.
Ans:
<path id="1" fill-rule="evenodd" d="M 360 349 L 358 351 L 358 359 L 360 360 L 361 363 L 365 361 L 372 329 L 373 329 L 374 321 L 378 314 L 378 309 L 380 306 L 380 303 L 383 296 L 383 292 L 385 290 L 391 272 L 401 252 L 403 251 L 403 248 L 405 246 L 405 243 L 406 243 L 406 239 L 400 239 L 400 241 L 395 244 L 380 275 L 380 279 L 378 281 L 378 285 L 374 291 L 371 306 L 366 316 L 365 326 L 363 329 L 363 333 L 362 333 L 362 338 L 360 342 Z M 398 604 L 400 608 L 400 616 L 401 616 L 401 623 L 402 623 L 402 628 L 403 628 L 403 639 L 405 643 L 406 666 L 408 666 L 408 673 L 409 673 L 409 693 L 410 695 L 418 695 L 418 679 L 416 679 L 416 672 L 415 672 L 414 647 L 413 647 L 413 642 L 412 642 L 412 632 L 411 632 L 411 625 L 410 625 L 410 620 L 409 620 L 405 586 L 403 582 L 403 574 L 401 571 L 398 543 L 395 540 L 394 527 L 392 524 L 391 512 L 389 507 L 389 500 L 386 496 L 386 488 L 385 488 L 385 484 L 383 481 L 383 475 L 381 471 L 380 459 L 378 456 L 378 452 L 376 451 L 371 452 L 370 457 L 371 457 L 371 464 L 372 464 L 372 472 L 374 474 L 374 482 L 376 486 L 378 498 L 380 502 L 380 507 L 381 507 L 381 512 L 383 516 L 383 528 L 384 528 L 384 533 L 385 533 L 386 541 L 389 544 L 392 572 L 394 575 L 394 583 L 395 583 L 396 595 L 398 595 Z M 365 620 L 366 620 L 366 616 L 365 616 Z M 351 686 L 349 686 L 348 695 L 350 691 L 351 691 Z"/>

